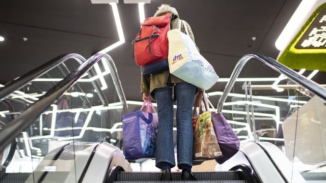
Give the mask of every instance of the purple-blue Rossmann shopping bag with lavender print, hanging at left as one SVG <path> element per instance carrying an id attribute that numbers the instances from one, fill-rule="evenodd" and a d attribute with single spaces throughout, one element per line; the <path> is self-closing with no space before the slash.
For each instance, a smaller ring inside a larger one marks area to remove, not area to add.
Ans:
<path id="1" fill-rule="evenodd" d="M 146 112 L 142 111 L 145 105 Z M 140 110 L 122 116 L 125 159 L 155 158 L 157 120 L 157 112 L 150 100 L 145 100 Z"/>

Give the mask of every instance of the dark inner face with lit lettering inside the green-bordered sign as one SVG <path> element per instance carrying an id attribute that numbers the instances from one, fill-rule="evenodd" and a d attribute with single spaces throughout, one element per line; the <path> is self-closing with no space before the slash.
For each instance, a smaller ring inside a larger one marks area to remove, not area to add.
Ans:
<path id="1" fill-rule="evenodd" d="M 326 49 L 326 8 L 311 22 L 295 49 Z"/>

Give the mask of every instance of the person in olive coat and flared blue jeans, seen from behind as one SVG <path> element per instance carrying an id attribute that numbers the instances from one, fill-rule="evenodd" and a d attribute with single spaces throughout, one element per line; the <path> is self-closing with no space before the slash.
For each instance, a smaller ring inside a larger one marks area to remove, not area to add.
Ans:
<path id="1" fill-rule="evenodd" d="M 179 15 L 175 8 L 169 5 L 158 7 L 154 16 L 173 13 L 171 29 L 179 27 Z M 186 23 L 181 25 L 181 31 L 188 29 L 189 36 L 194 40 L 191 27 Z M 143 100 L 154 98 L 158 112 L 158 134 L 156 141 L 156 167 L 161 169 L 160 180 L 172 180 L 171 168 L 175 166 L 173 143 L 173 104 L 176 102 L 177 125 L 177 161 L 182 170 L 182 180 L 197 180 L 191 172 L 193 165 L 193 126 L 192 110 L 197 87 L 184 82 L 170 74 L 169 70 L 155 75 L 141 76 L 141 93 Z"/>

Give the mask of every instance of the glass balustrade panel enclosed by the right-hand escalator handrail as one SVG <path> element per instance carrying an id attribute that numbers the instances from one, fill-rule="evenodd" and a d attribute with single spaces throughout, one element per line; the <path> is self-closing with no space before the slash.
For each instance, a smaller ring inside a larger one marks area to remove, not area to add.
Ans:
<path id="1" fill-rule="evenodd" d="M 262 68 L 252 72 L 251 64 L 261 64 Z M 262 78 L 264 72 L 274 77 Z M 312 80 L 318 77 L 318 73 L 312 76 L 314 71 L 296 72 Z M 250 60 L 227 97 L 223 114 L 241 142 L 254 140 L 275 144 L 292 163 L 293 171 L 309 179 L 318 175 L 324 177 L 326 172 L 325 105 L 325 101 L 308 89 L 258 60 Z"/>

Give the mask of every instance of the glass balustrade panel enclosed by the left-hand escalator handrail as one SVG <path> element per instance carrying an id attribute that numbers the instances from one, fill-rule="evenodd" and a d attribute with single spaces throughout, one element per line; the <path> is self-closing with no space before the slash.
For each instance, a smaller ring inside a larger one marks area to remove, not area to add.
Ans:
<path id="1" fill-rule="evenodd" d="M 66 66 L 71 68 L 67 64 Z M 72 69 L 74 67 L 75 65 L 73 65 Z M 51 73 L 43 76 L 49 75 L 58 76 L 61 79 L 65 76 L 62 68 L 53 69 Z M 43 76 L 40 78 L 47 78 Z M 33 105 L 59 81 L 59 79 L 58 81 L 42 81 L 39 79 L 21 90 L 24 93 L 21 94 L 19 100 L 14 99 L 12 96 L 9 97 L 14 106 L 20 105 L 18 106 L 20 110 L 15 110 L 13 114 L 19 115 L 30 105 Z M 100 90 L 97 90 L 95 86 Z M 35 99 L 28 104 L 28 100 L 31 99 L 30 96 L 35 97 Z M 107 104 L 103 105 L 102 101 L 107 101 Z M 58 151 L 59 147 L 67 143 L 105 141 L 120 148 L 122 145 L 121 116 L 123 111 L 110 67 L 104 59 L 100 60 L 89 74 L 86 73 L 77 80 L 63 96 L 44 110 L 26 131 L 16 137 L 15 157 L 10 163 L 10 166 L 14 168 L 8 167 L 6 172 L 32 173 L 34 170 L 45 171 L 43 165 L 41 166 L 42 170 L 40 170 L 39 163 L 46 156 L 50 156 Z M 6 116 L 12 114 L 5 108 L 3 113 Z M 75 145 L 72 150 L 76 152 L 85 150 L 85 148 L 84 146 Z M 75 163 L 78 157 L 74 158 L 70 161 Z M 58 161 L 56 162 L 58 163 Z M 75 164 L 72 162 L 69 163 L 70 168 L 65 166 L 60 168 L 59 165 L 46 167 L 48 171 L 70 172 L 75 168 Z M 83 161 L 83 163 L 87 163 L 87 161 Z M 79 164 L 79 166 L 83 165 Z M 35 172 L 33 173 L 35 175 Z M 68 174 L 66 175 L 68 176 Z"/>

